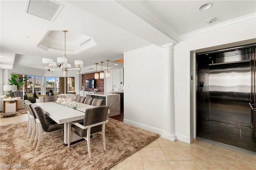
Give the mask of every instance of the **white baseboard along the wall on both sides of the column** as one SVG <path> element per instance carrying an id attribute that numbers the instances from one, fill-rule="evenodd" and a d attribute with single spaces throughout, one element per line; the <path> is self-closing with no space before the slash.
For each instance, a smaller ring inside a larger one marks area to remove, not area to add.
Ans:
<path id="1" fill-rule="evenodd" d="M 131 120 L 128 120 L 128 119 L 124 119 L 124 123 L 128 123 L 130 125 L 134 125 L 136 127 L 140 127 L 142 129 L 146 129 L 148 131 L 152 131 L 154 133 L 158 133 L 162 138 L 164 139 L 168 139 L 170 141 L 172 141 L 172 139 L 169 139 L 165 134 L 164 134 L 164 130 L 162 129 L 158 129 L 158 128 L 155 128 L 155 127 L 152 127 L 152 126 L 148 126 L 148 125 L 144 125 L 142 123 L 138 123 L 138 122 L 135 122 L 135 121 L 131 121 Z M 176 140 L 179 140 L 179 141 L 182 141 L 182 142 L 185 142 L 185 143 L 188 143 L 188 138 L 187 137 L 184 137 L 182 135 L 177 135 L 176 134 Z"/>

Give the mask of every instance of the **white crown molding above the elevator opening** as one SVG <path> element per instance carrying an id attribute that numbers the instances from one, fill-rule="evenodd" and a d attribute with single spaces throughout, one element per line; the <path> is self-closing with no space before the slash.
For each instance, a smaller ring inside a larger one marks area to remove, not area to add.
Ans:
<path id="1" fill-rule="evenodd" d="M 229 20 L 229 21 L 225 21 L 222 23 L 218 23 L 216 25 L 212 25 L 206 28 L 202 28 L 202 29 L 198 29 L 195 31 L 191 31 L 189 33 L 184 33 L 182 35 L 180 35 L 179 41 L 184 40 L 184 39 L 189 39 L 192 37 L 197 37 L 200 35 L 204 35 L 210 32 L 214 32 L 214 31 L 219 31 L 221 29 L 226 29 L 229 27 L 234 27 L 236 25 L 242 25 L 245 23 L 249 23 L 249 22 L 255 22 L 256 21 L 256 13 L 253 14 L 249 14 L 247 16 L 242 16 L 233 20 Z"/>

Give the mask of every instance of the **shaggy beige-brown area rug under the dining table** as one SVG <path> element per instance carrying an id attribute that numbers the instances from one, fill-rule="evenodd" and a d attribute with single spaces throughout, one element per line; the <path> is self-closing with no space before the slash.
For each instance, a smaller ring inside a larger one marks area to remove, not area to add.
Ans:
<path id="1" fill-rule="evenodd" d="M 159 137 L 132 125 L 111 118 L 108 120 L 106 151 L 101 135 L 97 134 L 91 139 L 91 159 L 86 141 L 68 149 L 60 131 L 43 134 L 35 152 L 36 146 L 26 139 L 26 121 L 0 126 L 0 164 L 25 165 L 28 170 L 108 170 Z"/>

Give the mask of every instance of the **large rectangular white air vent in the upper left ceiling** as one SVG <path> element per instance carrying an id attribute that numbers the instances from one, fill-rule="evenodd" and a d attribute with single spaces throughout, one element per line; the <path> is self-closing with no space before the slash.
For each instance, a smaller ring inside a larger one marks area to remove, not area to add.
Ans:
<path id="1" fill-rule="evenodd" d="M 53 0 L 27 0 L 25 12 L 53 22 L 63 7 Z"/>

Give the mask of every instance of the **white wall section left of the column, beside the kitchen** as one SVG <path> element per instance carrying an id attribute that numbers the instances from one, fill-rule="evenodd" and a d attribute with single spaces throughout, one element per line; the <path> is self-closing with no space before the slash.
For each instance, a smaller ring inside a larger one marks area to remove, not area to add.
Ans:
<path id="1" fill-rule="evenodd" d="M 164 49 L 156 45 L 124 53 L 124 122 L 162 133 Z"/>

